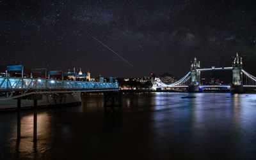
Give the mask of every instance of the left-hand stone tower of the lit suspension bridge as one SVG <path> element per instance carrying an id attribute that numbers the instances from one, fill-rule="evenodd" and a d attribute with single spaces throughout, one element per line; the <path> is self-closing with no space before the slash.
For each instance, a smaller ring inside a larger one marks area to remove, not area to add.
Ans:
<path id="1" fill-rule="evenodd" d="M 200 71 L 196 71 L 197 68 L 200 68 L 200 61 L 196 61 L 196 57 L 194 62 L 192 62 L 190 66 L 191 71 L 191 79 L 188 87 L 189 92 L 198 92 L 199 91 L 199 84 L 200 84 Z"/>

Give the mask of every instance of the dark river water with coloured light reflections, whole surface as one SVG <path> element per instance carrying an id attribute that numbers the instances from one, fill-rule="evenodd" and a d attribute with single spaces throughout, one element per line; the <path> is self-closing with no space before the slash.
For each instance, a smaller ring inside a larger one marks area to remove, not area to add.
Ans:
<path id="1" fill-rule="evenodd" d="M 181 98 L 196 96 L 196 98 Z M 0 159 L 255 159 L 256 94 L 123 94 L 122 115 L 104 116 L 104 96 L 81 106 L 0 113 Z"/>

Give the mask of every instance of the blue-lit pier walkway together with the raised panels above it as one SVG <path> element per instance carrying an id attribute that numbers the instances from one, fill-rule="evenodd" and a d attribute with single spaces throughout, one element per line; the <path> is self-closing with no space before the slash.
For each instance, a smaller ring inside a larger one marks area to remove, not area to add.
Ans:
<path id="1" fill-rule="evenodd" d="M 46 79 L 46 69 L 31 69 L 32 73 L 42 73 L 45 71 L 45 79 L 42 78 L 24 78 L 23 66 L 7 66 L 7 71 L 22 71 L 21 78 L 0 77 L 0 99 L 14 99 L 28 96 L 30 94 L 55 94 L 68 92 L 102 92 L 102 91 L 118 91 L 117 82 L 84 82 L 76 81 L 76 77 L 83 78 L 86 74 L 64 73 L 63 71 L 49 71 L 48 79 Z M 51 75 L 61 75 L 62 80 L 52 80 Z M 74 76 L 75 80 L 63 80 L 63 75 Z M 102 78 L 102 77 L 101 77 Z M 103 79 L 103 78 L 102 78 Z"/>

